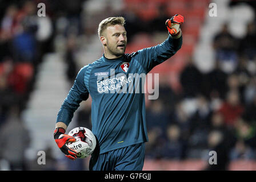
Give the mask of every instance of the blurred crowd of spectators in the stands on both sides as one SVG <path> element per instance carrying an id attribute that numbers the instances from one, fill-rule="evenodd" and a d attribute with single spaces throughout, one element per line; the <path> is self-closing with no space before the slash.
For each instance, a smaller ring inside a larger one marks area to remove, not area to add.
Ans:
<path id="1" fill-rule="evenodd" d="M 45 18 L 37 15 L 40 2 L 46 5 Z M 129 40 L 137 38 L 140 32 L 148 35 L 161 32 L 166 36 L 166 27 L 162 24 L 171 13 L 164 4 L 157 8 L 157 16 L 142 19 L 132 9 L 111 9 L 111 3 L 106 3 L 104 11 L 90 16 L 83 11 L 85 2 L 1 2 L 0 145 L 5 147 L 0 149 L 0 159 L 4 159 L 0 166 L 7 162 L 14 170 L 33 168 L 25 162 L 31 137 L 21 113 L 34 89 L 43 56 L 58 51 L 55 40 L 65 39 L 61 46 L 65 47 L 68 65 L 66 78 L 73 84 L 80 69 L 74 55 L 79 49 L 78 39 L 97 34 L 101 19 L 124 16 Z M 90 20 L 92 16 L 94 21 Z M 158 100 L 150 100 L 146 105 L 149 135 L 146 159 L 206 159 L 209 151 L 217 151 L 218 166 L 206 169 L 227 169 L 231 160 L 256 159 L 255 24 L 255 21 L 247 24 L 247 34 L 242 39 L 231 35 L 227 24 L 223 24 L 212 40 L 215 68 L 202 73 L 189 57 L 179 74 L 181 92 L 175 92 L 167 81 L 159 83 Z M 90 109 L 90 104 L 80 108 L 78 126 L 91 129 Z M 46 153 L 49 165 L 45 169 L 62 169 L 54 166 L 56 159 L 51 156 L 50 148 Z M 81 161 L 77 166 L 69 164 L 69 168 L 87 169 Z"/>

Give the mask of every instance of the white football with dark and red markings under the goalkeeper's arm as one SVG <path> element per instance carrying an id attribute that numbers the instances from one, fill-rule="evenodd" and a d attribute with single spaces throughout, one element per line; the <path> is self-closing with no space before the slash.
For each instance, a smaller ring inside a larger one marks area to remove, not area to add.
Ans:
<path id="1" fill-rule="evenodd" d="M 93 154 L 97 141 L 91 130 L 86 127 L 75 127 L 68 135 L 76 139 L 76 142 L 67 143 L 66 146 L 77 152 L 77 158 L 86 158 Z"/>

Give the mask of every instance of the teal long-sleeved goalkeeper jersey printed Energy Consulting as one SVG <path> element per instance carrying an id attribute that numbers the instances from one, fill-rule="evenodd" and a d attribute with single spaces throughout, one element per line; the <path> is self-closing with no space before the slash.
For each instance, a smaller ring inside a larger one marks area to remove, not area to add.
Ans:
<path id="1" fill-rule="evenodd" d="M 143 77 L 173 56 L 181 45 L 182 36 L 173 39 L 169 35 L 157 46 L 126 53 L 118 59 L 103 55 L 86 65 L 75 78 L 57 122 L 68 126 L 79 104 L 90 94 L 92 131 L 99 142 L 99 154 L 147 142 Z"/>

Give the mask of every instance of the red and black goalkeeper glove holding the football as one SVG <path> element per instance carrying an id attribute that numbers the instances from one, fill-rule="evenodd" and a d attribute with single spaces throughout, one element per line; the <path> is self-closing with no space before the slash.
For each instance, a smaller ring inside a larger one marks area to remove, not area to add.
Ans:
<path id="1" fill-rule="evenodd" d="M 66 146 L 66 143 L 75 142 L 75 138 L 70 135 L 65 135 L 65 129 L 62 127 L 58 127 L 54 130 L 54 139 L 57 143 L 59 149 L 65 154 L 65 156 L 69 159 L 77 159 L 77 152 L 71 150 Z"/>

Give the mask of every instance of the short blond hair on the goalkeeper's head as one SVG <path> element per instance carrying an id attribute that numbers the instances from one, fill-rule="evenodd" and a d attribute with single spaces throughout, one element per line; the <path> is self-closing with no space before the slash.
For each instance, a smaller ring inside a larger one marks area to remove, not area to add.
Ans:
<path id="1" fill-rule="evenodd" d="M 118 16 L 118 17 L 109 17 L 109 18 L 103 19 L 101 23 L 99 23 L 99 28 L 98 28 L 99 37 L 102 36 L 103 31 L 105 31 L 107 27 L 114 26 L 116 24 L 121 24 L 122 26 L 125 26 L 125 18 L 123 18 L 122 16 Z"/>

